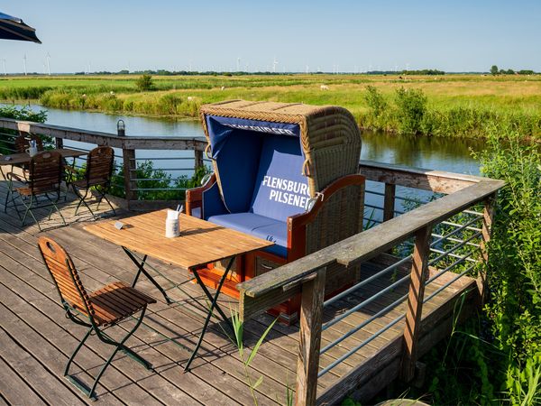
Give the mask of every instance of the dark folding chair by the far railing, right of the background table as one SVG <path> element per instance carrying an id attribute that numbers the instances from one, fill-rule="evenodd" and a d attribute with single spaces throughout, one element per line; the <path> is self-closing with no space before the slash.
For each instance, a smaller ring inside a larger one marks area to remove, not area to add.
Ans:
<path id="1" fill-rule="evenodd" d="M 90 189 L 96 190 L 96 192 L 99 194 L 97 198 L 97 209 L 99 209 L 102 199 L 105 199 L 109 207 L 113 210 L 113 214 L 116 214 L 115 208 L 105 196 L 105 193 L 107 193 L 111 188 L 111 177 L 113 175 L 114 163 L 115 151 L 109 146 L 100 146 L 88 152 L 87 169 L 85 171 L 84 178 L 82 180 L 69 181 L 73 191 L 79 198 L 77 208 L 75 209 L 76 215 L 81 204 L 84 204 L 92 216 L 96 218 L 96 215 L 90 206 L 88 206 L 86 201 L 88 194 L 91 193 Z M 69 167 L 66 169 L 71 171 Z M 81 192 L 81 189 L 85 190 L 84 193 Z"/>

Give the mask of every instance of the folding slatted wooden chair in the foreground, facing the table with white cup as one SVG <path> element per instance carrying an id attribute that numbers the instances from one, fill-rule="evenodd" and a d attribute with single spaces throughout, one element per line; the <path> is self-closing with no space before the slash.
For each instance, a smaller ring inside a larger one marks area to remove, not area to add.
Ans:
<path id="1" fill-rule="evenodd" d="M 77 348 L 69 357 L 68 364 L 64 370 L 64 376 L 68 378 L 69 382 L 85 393 L 88 398 L 96 400 L 94 393 L 96 385 L 107 366 L 113 361 L 118 350 L 122 350 L 146 369 L 151 370 L 152 365 L 142 358 L 141 355 L 134 353 L 132 349 L 125 346 L 124 343 L 141 325 L 147 305 L 155 303 L 156 300 L 121 281 L 111 283 L 98 291 L 88 293 L 78 276 L 78 272 L 69 254 L 58 243 L 48 237 L 42 236 L 38 239 L 38 246 L 43 257 L 43 262 L 47 266 L 57 291 L 60 294 L 60 302 L 66 311 L 66 317 L 74 323 L 88 328 L 87 334 L 81 339 Z M 141 311 L 141 315 L 139 318 L 135 318 L 135 326 L 120 341 L 115 341 L 115 339 L 105 334 L 104 330 L 106 328 L 116 326 L 125 318 L 139 311 Z M 88 388 L 76 376 L 69 375 L 69 365 L 92 333 L 96 334 L 96 337 L 103 343 L 115 346 L 115 350 L 107 358 L 104 366 L 96 375 L 92 386 Z"/>

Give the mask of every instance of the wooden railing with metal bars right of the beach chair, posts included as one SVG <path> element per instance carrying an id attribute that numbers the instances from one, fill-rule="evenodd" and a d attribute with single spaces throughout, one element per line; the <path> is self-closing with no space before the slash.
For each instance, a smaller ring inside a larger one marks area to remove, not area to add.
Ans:
<path id="1" fill-rule="evenodd" d="M 479 279 L 481 297 L 483 295 L 484 268 L 482 265 L 487 259 L 485 246 L 491 233 L 494 201 L 498 189 L 504 184 L 503 181 L 442 171 L 416 170 L 371 161 L 362 161 L 359 171 L 366 176 L 367 180 L 384 184 L 384 191 L 375 192 L 383 198 L 381 224 L 238 285 L 241 292 L 240 314 L 243 320 L 252 318 L 298 293 L 301 294 L 296 387 L 296 404 L 298 405 L 335 404 L 344 398 L 344 394 L 358 389 L 363 374 L 375 373 L 369 371 L 366 364 L 360 364 L 335 382 L 332 387 L 327 388 L 325 392 L 316 393 L 318 376 L 326 374 L 328 370 L 352 354 L 351 352 L 345 354 L 325 368 L 322 368 L 319 363 L 320 354 L 330 346 L 339 344 L 343 339 L 338 338 L 332 345 L 320 347 L 322 330 L 334 323 L 333 320 L 326 323 L 322 320 L 326 304 L 334 301 L 334 299 L 324 300 L 326 280 L 332 280 L 335 277 L 327 270 L 337 269 L 331 265 L 340 263 L 347 266 L 349 272 L 354 272 L 356 265 L 362 265 L 378 256 L 386 255 L 388 260 L 394 257 L 395 261 L 391 261 L 390 266 L 381 272 L 389 272 L 405 264 L 410 269 L 406 280 L 409 283 L 409 292 L 407 298 L 404 298 L 408 302 L 407 312 L 376 333 L 376 335 L 381 334 L 386 328 L 405 319 L 406 327 L 402 345 L 388 349 L 388 353 L 383 355 L 387 361 L 380 364 L 383 370 L 386 365 L 391 364 L 393 356 L 400 358 L 400 370 L 390 369 L 384 381 L 386 383 L 390 383 L 397 376 L 406 381 L 413 378 L 416 361 L 421 355 L 419 353 L 419 327 L 423 304 L 434 296 L 433 294 L 431 297 L 424 297 L 425 286 L 428 283 L 441 277 L 445 272 L 459 272 L 451 276 L 450 282 L 445 283 L 445 288 L 466 274 L 475 274 Z M 400 210 L 396 209 L 396 200 L 399 198 L 396 193 L 397 187 L 428 190 L 445 196 L 401 214 Z M 371 191 L 367 189 L 367 194 L 369 193 Z M 397 213 L 399 216 L 395 217 Z M 452 221 L 457 215 L 462 218 L 461 224 Z M 464 216 L 467 216 L 468 220 Z M 481 223 L 479 227 L 474 226 L 475 221 Z M 437 230 L 443 228 L 447 230 L 446 234 L 437 234 Z M 457 238 L 459 232 L 466 232 L 467 235 L 463 239 Z M 408 241 L 410 239 L 412 239 L 411 242 Z M 444 240 L 453 242 L 454 247 L 446 250 L 438 249 L 438 244 Z M 479 240 L 479 244 L 476 244 L 475 240 Z M 411 254 L 403 255 L 401 258 L 388 254 L 393 248 L 396 249 L 404 244 L 412 245 Z M 475 251 L 479 251 L 480 259 L 473 258 L 473 253 L 457 254 L 460 251 L 459 248 L 463 247 L 472 247 Z M 438 268 L 436 263 L 445 258 L 451 258 L 453 263 Z M 469 266 L 464 266 L 464 263 Z M 354 291 L 366 282 L 360 281 L 344 294 Z M 340 296 L 344 294 L 341 293 Z M 364 299 L 353 309 L 360 309 L 365 302 L 372 299 Z M 338 318 L 343 318 L 343 315 L 337 316 Z M 348 337 L 359 328 L 362 326 L 353 328 L 344 337 Z M 376 335 L 364 340 L 357 348 L 370 342 Z M 373 388 L 369 388 L 366 392 L 372 395 L 375 393 Z"/>

